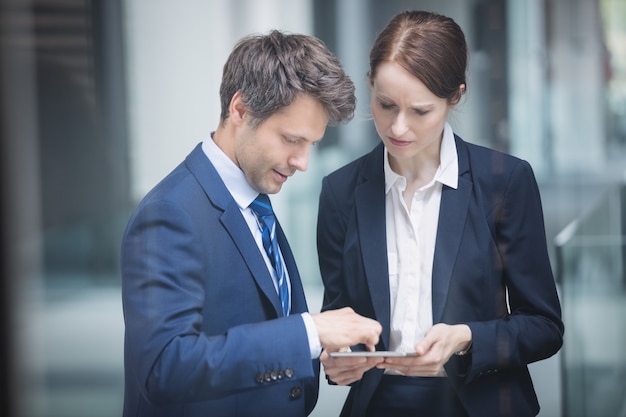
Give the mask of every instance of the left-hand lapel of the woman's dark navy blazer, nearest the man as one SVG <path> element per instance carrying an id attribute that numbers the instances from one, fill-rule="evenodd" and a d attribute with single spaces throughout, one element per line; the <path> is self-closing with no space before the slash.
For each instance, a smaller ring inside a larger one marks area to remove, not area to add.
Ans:
<path id="1" fill-rule="evenodd" d="M 363 255 L 363 264 L 376 318 L 389 323 L 389 272 L 387 266 L 387 235 L 385 220 L 385 175 L 383 146 L 379 145 L 365 163 L 363 172 L 368 177 L 355 190 L 357 227 Z M 389 329 L 382 334 L 383 344 L 389 347 Z"/>

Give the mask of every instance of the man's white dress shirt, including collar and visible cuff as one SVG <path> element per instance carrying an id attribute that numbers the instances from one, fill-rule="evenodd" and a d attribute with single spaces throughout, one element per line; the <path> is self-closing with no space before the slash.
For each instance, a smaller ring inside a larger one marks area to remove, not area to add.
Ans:
<path id="1" fill-rule="evenodd" d="M 259 251 L 263 255 L 265 265 L 267 266 L 267 269 L 272 276 L 274 288 L 278 293 L 278 277 L 276 276 L 276 270 L 272 266 L 270 258 L 267 255 L 265 248 L 263 247 L 262 233 L 258 225 L 257 216 L 250 208 L 250 204 L 259 195 L 259 193 L 255 191 L 252 186 L 250 186 L 250 183 L 246 179 L 243 171 L 237 165 L 235 165 L 235 163 L 215 144 L 215 142 L 213 141 L 213 134 L 208 136 L 203 141 L 202 150 L 215 167 L 215 170 L 226 185 L 226 188 L 228 188 L 228 191 L 239 206 L 239 210 L 241 210 L 243 218 L 246 220 L 246 223 L 248 223 L 248 227 L 250 228 L 252 236 L 254 236 L 254 240 L 259 247 Z M 281 260 L 282 259 L 283 257 L 281 253 Z M 287 284 L 289 285 L 289 293 L 291 294 L 291 280 L 289 279 L 289 271 L 284 265 L 284 260 L 283 270 L 287 275 Z M 304 321 L 304 325 L 306 327 L 307 335 L 309 338 L 311 359 L 315 359 L 322 352 L 322 346 L 320 344 L 319 336 L 317 334 L 317 329 L 315 328 L 315 324 L 313 323 L 313 319 L 311 318 L 311 315 L 309 313 L 302 313 L 301 316 L 302 320 Z"/>

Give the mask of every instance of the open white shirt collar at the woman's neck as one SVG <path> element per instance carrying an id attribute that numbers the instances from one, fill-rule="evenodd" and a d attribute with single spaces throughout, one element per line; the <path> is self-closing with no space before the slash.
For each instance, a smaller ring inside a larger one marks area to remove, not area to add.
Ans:
<path id="1" fill-rule="evenodd" d="M 406 179 L 394 172 L 389 165 L 389 152 L 385 148 L 384 157 L 385 171 L 385 193 L 398 186 L 404 188 Z M 456 144 L 454 141 L 454 132 L 450 124 L 446 122 L 443 128 L 443 138 L 441 139 L 441 149 L 439 152 L 439 168 L 430 184 L 440 182 L 450 188 L 456 189 L 459 184 L 459 159 L 456 152 Z"/>

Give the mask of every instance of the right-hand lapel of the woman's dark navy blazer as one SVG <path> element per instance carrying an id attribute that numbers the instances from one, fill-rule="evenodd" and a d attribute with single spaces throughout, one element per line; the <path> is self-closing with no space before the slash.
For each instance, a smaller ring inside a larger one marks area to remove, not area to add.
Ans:
<path id="1" fill-rule="evenodd" d="M 467 150 L 459 138 L 456 138 L 456 147 L 459 159 L 458 188 L 455 190 L 447 186 L 443 187 L 439 208 L 439 226 L 433 260 L 433 323 L 439 323 L 443 316 L 473 190 Z"/>

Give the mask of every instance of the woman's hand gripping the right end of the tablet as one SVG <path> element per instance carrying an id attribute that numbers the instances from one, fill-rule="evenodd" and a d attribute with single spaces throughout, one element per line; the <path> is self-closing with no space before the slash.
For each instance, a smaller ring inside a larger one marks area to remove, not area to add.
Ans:
<path id="1" fill-rule="evenodd" d="M 407 376 L 442 376 L 450 357 L 467 349 L 471 342 L 472 331 L 467 325 L 439 323 L 415 346 L 417 356 L 385 358 L 377 367 L 395 369 Z"/>

